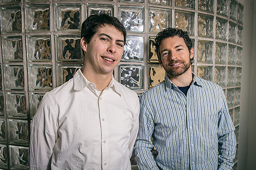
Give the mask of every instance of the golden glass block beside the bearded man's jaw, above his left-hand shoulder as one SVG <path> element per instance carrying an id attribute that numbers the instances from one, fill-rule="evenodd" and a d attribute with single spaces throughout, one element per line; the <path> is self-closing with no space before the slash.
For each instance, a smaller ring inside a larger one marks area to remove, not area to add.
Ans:
<path id="1" fill-rule="evenodd" d="M 158 83 L 165 80 L 166 71 L 165 69 L 160 65 L 148 65 L 149 69 L 149 83 L 148 87 L 152 88 Z"/>

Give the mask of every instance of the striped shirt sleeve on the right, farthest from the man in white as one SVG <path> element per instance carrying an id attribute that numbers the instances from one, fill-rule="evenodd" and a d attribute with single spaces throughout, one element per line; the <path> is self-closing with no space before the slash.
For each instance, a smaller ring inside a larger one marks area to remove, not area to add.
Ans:
<path id="1" fill-rule="evenodd" d="M 218 170 L 232 170 L 237 142 L 223 90 L 221 100 L 222 109 L 218 113 Z"/>

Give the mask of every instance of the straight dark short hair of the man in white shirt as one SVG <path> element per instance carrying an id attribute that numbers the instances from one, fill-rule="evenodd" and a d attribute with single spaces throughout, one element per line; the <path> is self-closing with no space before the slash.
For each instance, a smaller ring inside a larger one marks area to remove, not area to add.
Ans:
<path id="1" fill-rule="evenodd" d="M 97 32 L 99 26 L 113 25 L 124 35 L 124 43 L 126 41 L 126 30 L 124 25 L 116 17 L 111 17 L 107 14 L 90 15 L 82 24 L 81 38 L 84 38 L 87 43 Z"/>

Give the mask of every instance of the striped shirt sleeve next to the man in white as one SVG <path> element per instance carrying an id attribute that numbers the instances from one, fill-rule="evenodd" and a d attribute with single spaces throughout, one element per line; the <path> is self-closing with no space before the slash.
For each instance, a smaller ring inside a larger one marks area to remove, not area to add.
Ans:
<path id="1" fill-rule="evenodd" d="M 135 142 L 135 156 L 140 170 L 159 170 L 154 160 L 151 141 L 154 121 L 149 113 L 145 99 L 140 98 L 139 132 Z"/>

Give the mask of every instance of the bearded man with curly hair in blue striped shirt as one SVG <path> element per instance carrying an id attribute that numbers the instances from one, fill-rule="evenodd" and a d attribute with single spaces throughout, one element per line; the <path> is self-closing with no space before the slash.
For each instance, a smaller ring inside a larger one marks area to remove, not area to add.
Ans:
<path id="1" fill-rule="evenodd" d="M 192 72 L 187 32 L 165 29 L 155 47 L 166 76 L 140 97 L 139 169 L 231 170 L 236 138 L 222 88 Z"/>

